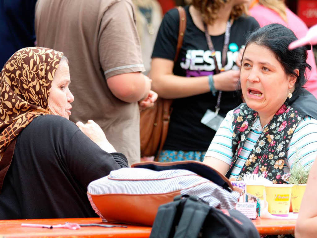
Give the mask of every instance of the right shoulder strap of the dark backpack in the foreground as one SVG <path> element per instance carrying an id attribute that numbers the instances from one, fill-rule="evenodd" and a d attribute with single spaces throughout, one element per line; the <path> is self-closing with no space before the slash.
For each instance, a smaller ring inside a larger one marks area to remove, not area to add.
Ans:
<path id="1" fill-rule="evenodd" d="M 197 238 L 210 206 L 195 196 L 189 196 L 178 223 L 174 238 Z"/>

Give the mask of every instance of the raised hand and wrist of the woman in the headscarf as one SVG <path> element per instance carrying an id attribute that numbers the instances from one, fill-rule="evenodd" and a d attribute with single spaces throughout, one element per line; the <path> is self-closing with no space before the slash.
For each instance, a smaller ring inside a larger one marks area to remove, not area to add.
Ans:
<path id="1" fill-rule="evenodd" d="M 105 133 L 102 131 L 100 126 L 93 120 L 88 120 L 86 124 L 81 121 L 77 122 L 76 125 L 81 131 L 87 135 L 92 141 L 94 141 L 101 149 L 108 153 L 117 152 L 113 146 L 109 143 Z"/>

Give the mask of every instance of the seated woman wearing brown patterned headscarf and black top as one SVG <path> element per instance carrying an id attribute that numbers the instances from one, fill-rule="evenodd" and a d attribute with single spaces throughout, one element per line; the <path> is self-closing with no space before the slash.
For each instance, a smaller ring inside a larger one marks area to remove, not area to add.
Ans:
<path id="1" fill-rule="evenodd" d="M 74 101 L 69 83 L 62 52 L 25 48 L 4 65 L 0 219 L 96 216 L 87 185 L 127 167 L 97 124 L 68 120 Z"/>

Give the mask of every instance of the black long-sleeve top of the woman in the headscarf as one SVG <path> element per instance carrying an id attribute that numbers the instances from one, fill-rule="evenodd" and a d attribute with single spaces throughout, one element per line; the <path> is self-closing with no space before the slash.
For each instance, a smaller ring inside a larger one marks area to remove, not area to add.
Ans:
<path id="1" fill-rule="evenodd" d="M 17 136 L 0 219 L 95 217 L 88 184 L 121 167 L 123 154 L 105 152 L 73 122 L 39 116 Z"/>

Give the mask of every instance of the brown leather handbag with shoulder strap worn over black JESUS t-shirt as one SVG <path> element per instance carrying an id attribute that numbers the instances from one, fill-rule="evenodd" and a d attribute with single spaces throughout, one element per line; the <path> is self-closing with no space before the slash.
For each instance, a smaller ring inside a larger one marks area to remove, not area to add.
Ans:
<path id="1" fill-rule="evenodd" d="M 178 59 L 186 30 L 186 12 L 178 7 L 179 31 L 174 62 Z M 158 98 L 154 107 L 140 112 L 141 156 L 159 155 L 166 140 L 171 115 L 172 99 Z"/>

